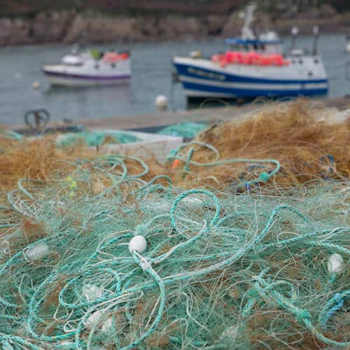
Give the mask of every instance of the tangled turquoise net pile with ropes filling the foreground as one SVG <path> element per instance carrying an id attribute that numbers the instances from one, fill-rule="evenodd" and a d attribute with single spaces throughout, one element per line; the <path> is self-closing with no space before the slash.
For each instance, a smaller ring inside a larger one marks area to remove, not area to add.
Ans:
<path id="1" fill-rule="evenodd" d="M 344 181 L 237 194 L 123 155 L 62 169 L 1 207 L 3 349 L 349 346 Z"/>

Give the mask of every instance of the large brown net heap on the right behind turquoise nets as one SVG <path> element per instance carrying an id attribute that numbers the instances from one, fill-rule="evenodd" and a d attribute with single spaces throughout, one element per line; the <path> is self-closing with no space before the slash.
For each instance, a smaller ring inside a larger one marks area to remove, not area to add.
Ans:
<path id="1" fill-rule="evenodd" d="M 320 177 L 348 179 L 350 118 L 334 123 L 325 112 L 304 101 L 272 104 L 243 121 L 214 125 L 169 155 L 172 167 L 183 169 L 174 181 L 181 186 L 235 187 L 237 179 L 240 183 L 274 169 L 266 162 L 232 163 L 241 158 L 279 160 L 281 169 L 274 178 L 279 186 Z"/>

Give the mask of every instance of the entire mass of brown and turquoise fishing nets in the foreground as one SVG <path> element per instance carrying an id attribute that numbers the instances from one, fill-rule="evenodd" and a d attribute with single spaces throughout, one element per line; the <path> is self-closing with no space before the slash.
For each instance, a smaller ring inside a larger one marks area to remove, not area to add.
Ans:
<path id="1" fill-rule="evenodd" d="M 349 125 L 279 108 L 165 164 L 1 143 L 2 348 L 349 347 Z"/>

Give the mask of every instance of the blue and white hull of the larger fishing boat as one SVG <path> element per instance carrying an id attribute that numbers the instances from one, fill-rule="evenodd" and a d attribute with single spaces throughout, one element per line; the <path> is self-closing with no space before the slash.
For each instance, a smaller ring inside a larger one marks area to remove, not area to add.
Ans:
<path id="1" fill-rule="evenodd" d="M 314 59 L 313 61 L 314 62 Z M 321 62 L 312 66 L 243 66 L 221 67 L 209 59 L 175 57 L 174 66 L 189 98 L 255 98 L 323 95 L 328 80 Z M 311 71 L 312 77 L 309 76 Z"/>

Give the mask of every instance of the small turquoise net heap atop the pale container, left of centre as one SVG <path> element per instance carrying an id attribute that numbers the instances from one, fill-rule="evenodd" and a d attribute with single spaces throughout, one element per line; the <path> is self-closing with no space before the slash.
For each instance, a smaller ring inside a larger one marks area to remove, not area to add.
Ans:
<path id="1" fill-rule="evenodd" d="M 101 146 L 102 144 L 129 144 L 136 141 L 141 140 L 133 134 L 127 134 L 125 132 L 86 130 L 63 135 L 57 140 L 57 146 L 65 147 L 83 144 L 92 147 Z"/>

